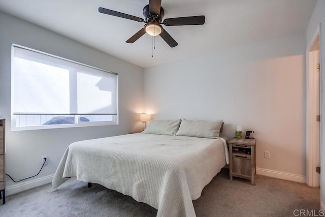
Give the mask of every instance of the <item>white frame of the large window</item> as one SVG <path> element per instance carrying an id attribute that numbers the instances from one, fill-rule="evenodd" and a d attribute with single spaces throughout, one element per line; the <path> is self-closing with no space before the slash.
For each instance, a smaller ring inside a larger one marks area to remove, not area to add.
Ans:
<path id="1" fill-rule="evenodd" d="M 74 60 L 71 60 L 71 59 L 67 59 L 67 58 L 63 58 L 63 57 L 60 57 L 60 56 L 56 56 L 56 55 L 52 55 L 52 54 L 49 54 L 49 53 L 45 53 L 45 52 L 42 52 L 42 51 L 39 51 L 39 50 L 35 50 L 35 49 L 32 49 L 32 48 L 28 48 L 28 47 L 24 47 L 24 46 L 21 46 L 21 45 L 17 45 L 17 44 L 12 44 L 12 52 L 11 52 L 11 69 L 13 70 L 13 58 L 14 58 L 14 52 L 13 52 L 13 49 L 14 47 L 19 47 L 19 48 L 23 48 L 23 49 L 26 49 L 26 50 L 30 50 L 30 51 L 34 51 L 34 52 L 38 52 L 38 53 L 41 53 L 41 54 L 44 54 L 44 55 L 49 55 L 49 56 L 52 56 L 52 57 L 55 57 L 55 58 L 59 58 L 59 59 L 62 59 L 62 60 L 66 60 L 66 61 L 70 61 L 72 63 L 75 63 L 75 64 L 79 64 L 79 65 L 82 65 L 82 66 L 85 66 L 85 67 L 89 67 L 89 68 L 92 68 L 92 69 L 96 69 L 96 70 L 101 70 L 101 71 L 104 71 L 104 72 L 107 72 L 107 73 L 111 73 L 111 74 L 115 74 L 117 76 L 117 84 L 116 84 L 116 88 L 117 88 L 117 92 L 116 92 L 116 109 L 117 109 L 117 113 L 116 115 L 112 115 L 113 117 L 113 120 L 112 121 L 79 121 L 79 117 L 82 116 L 82 115 L 79 115 L 79 114 L 70 114 L 69 116 L 74 116 L 75 118 L 75 123 L 70 123 L 70 124 L 58 124 L 58 125 L 37 125 L 37 126 L 19 126 L 19 127 L 16 127 L 16 116 L 18 116 L 17 114 L 14 114 L 13 112 L 13 83 L 14 83 L 14 79 L 11 79 L 11 130 L 12 131 L 25 131 L 25 130 L 42 130 L 42 129 L 58 129 L 58 128 L 76 128 L 76 127 L 91 127 L 91 126 L 110 126 L 110 125 L 118 125 L 118 74 L 117 73 L 114 73 L 114 72 L 111 72 L 111 71 L 108 71 L 108 70 L 104 70 L 104 69 L 100 69 L 100 68 L 96 68 L 96 67 L 93 67 L 93 66 L 89 66 L 89 65 L 86 65 L 86 64 L 82 64 L 82 63 L 79 63 L 77 61 L 74 61 Z M 12 70 L 11 70 L 11 75 L 12 75 Z M 54 115 L 60 115 L 60 114 L 54 114 Z M 91 114 L 86 114 L 86 115 L 91 115 Z"/>

